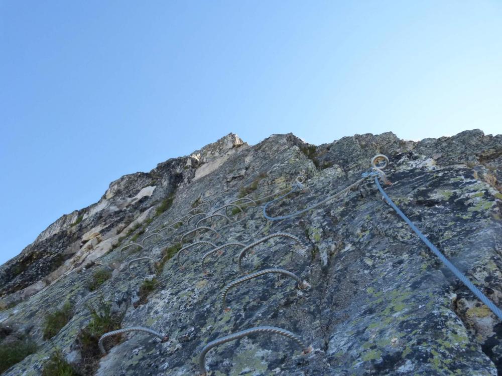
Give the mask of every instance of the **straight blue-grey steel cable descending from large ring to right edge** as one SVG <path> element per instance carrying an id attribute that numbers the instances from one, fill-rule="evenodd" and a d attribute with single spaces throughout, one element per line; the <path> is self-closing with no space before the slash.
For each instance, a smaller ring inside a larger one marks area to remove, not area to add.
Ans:
<path id="1" fill-rule="evenodd" d="M 382 171 L 381 171 L 382 172 Z M 453 274 L 455 274 L 455 276 L 460 280 L 462 281 L 462 283 L 467 286 L 467 288 L 469 290 L 472 291 L 472 293 L 474 295 L 477 296 L 477 298 L 479 300 L 481 300 L 484 304 L 486 304 L 486 306 L 495 314 L 495 316 L 497 316 L 500 320 L 502 320 L 502 311 L 500 311 L 500 309 L 495 305 L 493 304 L 493 302 L 491 302 L 491 300 L 489 300 L 481 291 L 479 291 L 479 289 L 474 286 L 472 284 L 471 281 L 469 281 L 469 279 L 463 275 L 442 253 L 441 251 L 439 251 L 439 249 L 437 249 L 434 244 L 432 244 L 429 239 L 427 239 L 425 237 L 424 234 L 422 234 L 422 232 L 415 226 L 415 224 L 410 221 L 408 219 L 408 217 L 406 217 L 404 215 L 404 213 L 396 206 L 396 204 L 394 204 L 394 202 L 391 200 L 391 198 L 385 193 L 385 191 L 383 190 L 382 188 L 382 185 L 380 185 L 380 181 L 378 180 L 378 177 L 375 176 L 374 177 L 374 181 L 375 181 L 375 184 L 376 186 L 378 187 L 380 193 L 384 196 L 384 199 L 387 201 L 387 203 L 392 207 L 392 209 L 394 209 L 396 211 L 397 214 L 399 214 L 399 216 L 411 227 L 411 229 L 415 232 L 415 234 L 418 235 L 418 237 L 420 238 L 420 240 L 422 240 L 422 242 L 425 243 L 425 245 L 427 247 L 429 247 L 429 249 L 441 260 L 441 262 L 443 264 L 446 265 L 446 267 L 448 269 L 451 270 L 451 272 Z"/>

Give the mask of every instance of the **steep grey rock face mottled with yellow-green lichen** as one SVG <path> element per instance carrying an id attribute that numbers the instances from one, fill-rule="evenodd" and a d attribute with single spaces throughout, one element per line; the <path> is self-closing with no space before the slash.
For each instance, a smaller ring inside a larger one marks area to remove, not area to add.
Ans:
<path id="1" fill-rule="evenodd" d="M 210 350 L 208 374 L 502 374 L 498 319 L 382 200 L 371 178 L 302 215 L 264 219 L 263 204 L 298 175 L 306 178 L 305 190 L 272 205 L 270 216 L 302 210 L 341 191 L 369 170 L 376 153 L 390 158 L 385 171 L 393 184 L 385 190 L 392 200 L 502 306 L 501 135 L 473 130 L 412 142 L 392 133 L 365 134 L 314 146 L 287 134 L 248 146 L 229 134 L 148 173 L 112 182 L 98 203 L 61 217 L 0 267 L 0 332 L 22 332 L 38 344 L 36 353 L 4 374 L 39 375 L 58 347 L 83 374 L 196 375 L 206 343 L 254 326 L 290 330 L 312 351 L 303 354 L 294 341 L 279 335 L 255 334 Z M 209 205 L 200 208 L 210 213 L 239 195 L 254 200 L 272 196 L 242 212 L 230 207 L 229 221 L 204 221 L 200 226 L 210 226 L 217 235 L 201 230 L 184 245 L 196 240 L 247 245 L 289 233 L 302 244 L 272 238 L 246 253 L 242 267 L 245 272 L 283 268 L 308 288 L 265 275 L 231 289 L 231 309 L 223 310 L 221 291 L 242 275 L 237 266 L 241 247 L 208 256 L 206 273 L 200 260 L 210 245 L 181 252 L 183 268 L 172 257 L 181 234 L 204 215 L 176 230 L 162 230 L 142 250 L 132 246 L 120 254 L 122 246 L 141 244 L 153 229 L 175 225 L 175 219 L 203 202 Z M 133 278 L 128 262 L 142 256 L 163 262 L 158 268 L 149 260 L 132 264 Z M 111 276 L 92 289 L 98 270 Z M 145 281 L 153 279 L 145 296 Z M 150 327 L 169 340 L 141 332 L 124 335 L 113 347 L 105 343 L 108 354 L 95 357 L 89 370 L 82 365 L 80 333 L 92 319 L 89 307 L 102 313 L 98 302 L 103 299 L 120 314 L 121 327 Z M 45 315 L 66 301 L 74 305 L 71 319 L 45 340 Z"/>

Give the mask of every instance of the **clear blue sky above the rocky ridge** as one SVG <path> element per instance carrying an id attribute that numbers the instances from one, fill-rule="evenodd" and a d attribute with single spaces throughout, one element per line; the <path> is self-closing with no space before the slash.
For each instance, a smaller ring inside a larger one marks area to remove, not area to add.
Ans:
<path id="1" fill-rule="evenodd" d="M 2 1 L 0 263 L 229 132 L 502 133 L 500 20 L 499 1 Z"/>

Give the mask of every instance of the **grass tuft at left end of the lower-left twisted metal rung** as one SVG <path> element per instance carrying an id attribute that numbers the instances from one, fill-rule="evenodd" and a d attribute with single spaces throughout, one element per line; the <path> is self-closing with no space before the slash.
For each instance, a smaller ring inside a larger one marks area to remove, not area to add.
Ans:
<path id="1" fill-rule="evenodd" d="M 99 366 L 100 352 L 97 346 L 99 338 L 112 330 L 120 329 L 123 314 L 114 314 L 111 312 L 111 304 L 105 301 L 103 297 L 99 299 L 98 308 L 101 313 L 88 305 L 87 308 L 91 313 L 91 320 L 85 328 L 80 331 L 79 343 L 82 360 L 80 368 L 83 374 L 94 374 Z M 120 341 L 120 335 L 111 337 L 106 343 L 117 344 Z"/>

